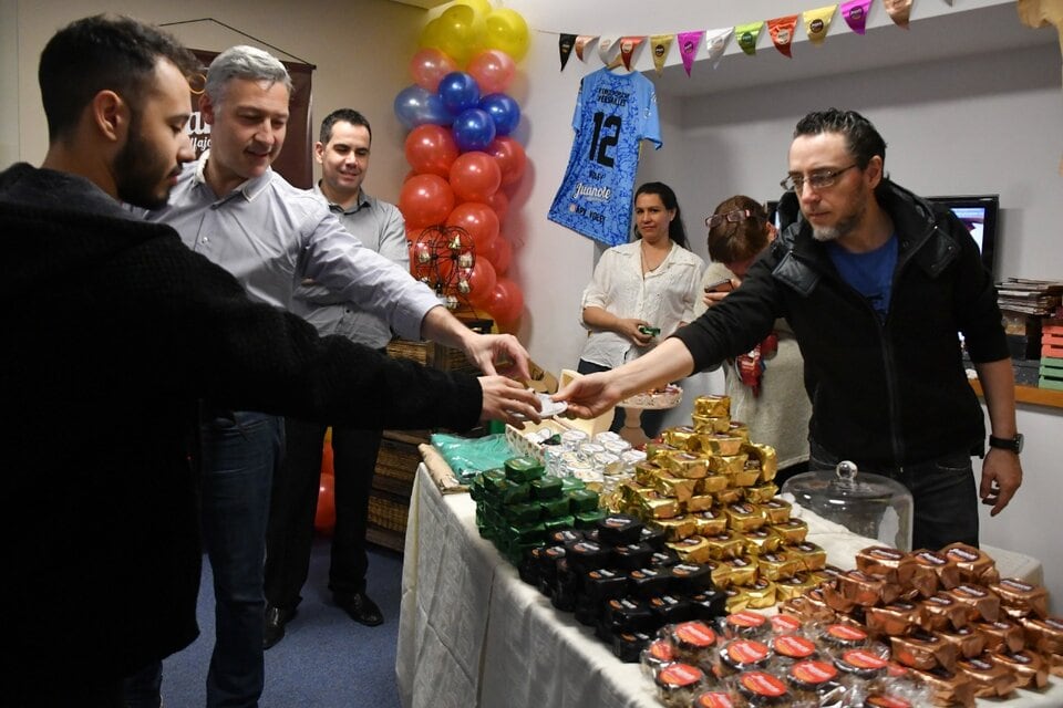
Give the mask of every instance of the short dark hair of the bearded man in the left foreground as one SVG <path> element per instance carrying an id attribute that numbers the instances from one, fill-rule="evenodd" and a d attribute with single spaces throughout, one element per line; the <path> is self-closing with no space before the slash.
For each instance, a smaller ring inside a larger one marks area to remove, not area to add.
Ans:
<path id="1" fill-rule="evenodd" d="M 202 70 L 195 55 L 175 38 L 117 14 L 97 14 L 68 24 L 41 52 L 38 81 L 49 140 L 72 131 L 85 106 L 111 90 L 138 113 L 154 88 L 155 64 L 174 63 L 186 76 Z"/>

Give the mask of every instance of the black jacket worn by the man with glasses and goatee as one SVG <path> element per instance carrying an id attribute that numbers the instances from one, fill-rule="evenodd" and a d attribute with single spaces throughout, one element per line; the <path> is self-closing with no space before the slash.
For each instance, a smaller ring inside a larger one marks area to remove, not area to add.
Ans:
<path id="1" fill-rule="evenodd" d="M 958 450 L 981 454 L 982 410 L 957 333 L 976 363 L 1009 357 L 997 289 L 951 212 L 889 180 L 876 197 L 899 238 L 885 321 L 842 279 L 798 215 L 741 288 L 675 336 L 702 371 L 749 351 L 785 317 L 805 358 L 811 439 L 884 469 Z"/>

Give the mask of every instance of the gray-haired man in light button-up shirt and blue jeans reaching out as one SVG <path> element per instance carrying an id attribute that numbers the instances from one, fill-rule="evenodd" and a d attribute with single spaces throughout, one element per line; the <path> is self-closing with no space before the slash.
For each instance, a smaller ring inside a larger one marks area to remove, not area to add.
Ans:
<path id="1" fill-rule="evenodd" d="M 174 227 L 188 248 L 233 273 L 252 300 L 287 310 L 296 287 L 312 279 L 379 314 L 403 337 L 461 348 L 491 374 L 496 362 L 510 362 L 515 376 L 526 381 L 528 355 L 515 337 L 468 330 L 409 272 L 363 248 L 327 205 L 270 169 L 283 146 L 290 95 L 287 70 L 268 52 L 234 46 L 219 54 L 199 97 L 210 149 L 186 167 L 169 206 L 147 218 Z M 499 392 L 500 419 L 514 419 L 507 399 L 532 395 L 512 383 Z M 217 618 L 207 705 L 256 706 L 265 680 L 266 528 L 283 421 L 207 402 L 200 435 L 203 530 Z"/>

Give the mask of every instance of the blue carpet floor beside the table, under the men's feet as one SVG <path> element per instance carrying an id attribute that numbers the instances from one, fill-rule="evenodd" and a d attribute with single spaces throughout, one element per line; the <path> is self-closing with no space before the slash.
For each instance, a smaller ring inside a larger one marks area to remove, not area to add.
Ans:
<path id="1" fill-rule="evenodd" d="M 299 614 L 287 636 L 266 652 L 266 690 L 260 708 L 399 708 L 395 641 L 402 555 L 369 546 L 369 595 L 384 614 L 384 624 L 365 627 L 332 604 L 328 589 L 329 542 L 314 540 L 310 577 L 302 589 Z M 166 708 L 200 708 L 214 647 L 214 590 L 204 559 L 196 642 L 163 664 Z"/>

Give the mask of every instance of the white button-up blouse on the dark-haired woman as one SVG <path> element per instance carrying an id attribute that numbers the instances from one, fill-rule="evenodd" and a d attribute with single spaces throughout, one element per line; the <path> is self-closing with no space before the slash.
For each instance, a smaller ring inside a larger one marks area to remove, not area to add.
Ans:
<path id="1" fill-rule="evenodd" d="M 579 304 L 580 324 L 589 331 L 580 358 L 615 368 L 649 352 L 657 342 L 694 319 L 701 294 L 701 258 L 672 243 L 654 270 L 642 274 L 641 241 L 615 246 L 601 254 Z M 637 346 L 616 332 L 595 330 L 582 321 L 584 308 L 601 308 L 618 317 L 644 320 L 661 333 L 650 346 Z"/>

